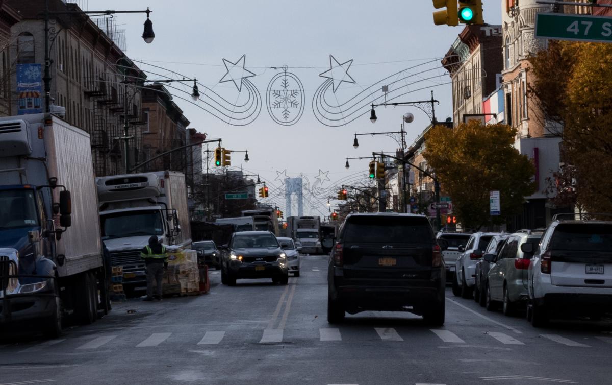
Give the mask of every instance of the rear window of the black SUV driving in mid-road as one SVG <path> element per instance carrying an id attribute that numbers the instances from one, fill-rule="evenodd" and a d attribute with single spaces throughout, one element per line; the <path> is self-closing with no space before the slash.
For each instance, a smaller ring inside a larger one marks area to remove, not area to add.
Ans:
<path id="1" fill-rule="evenodd" d="M 344 242 L 433 243 L 427 219 L 397 216 L 354 216 L 345 224 Z"/>

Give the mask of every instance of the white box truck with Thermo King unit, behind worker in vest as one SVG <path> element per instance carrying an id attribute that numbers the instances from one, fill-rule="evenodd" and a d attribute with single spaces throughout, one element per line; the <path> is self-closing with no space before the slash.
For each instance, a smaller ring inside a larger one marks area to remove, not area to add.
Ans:
<path id="1" fill-rule="evenodd" d="M 187 186 L 181 172 L 155 171 L 95 179 L 100 231 L 113 266 L 123 267 L 126 294 L 146 289 L 140 252 L 155 235 L 163 245 L 191 248 Z"/>

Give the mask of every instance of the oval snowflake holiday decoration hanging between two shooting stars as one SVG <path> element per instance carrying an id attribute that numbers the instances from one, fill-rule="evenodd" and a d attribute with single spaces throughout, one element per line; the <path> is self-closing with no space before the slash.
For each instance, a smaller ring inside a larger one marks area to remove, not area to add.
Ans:
<path id="1" fill-rule="evenodd" d="M 297 123 L 304 113 L 304 86 L 299 78 L 283 66 L 283 72 L 275 75 L 268 84 L 266 105 L 272 120 L 283 126 Z"/>

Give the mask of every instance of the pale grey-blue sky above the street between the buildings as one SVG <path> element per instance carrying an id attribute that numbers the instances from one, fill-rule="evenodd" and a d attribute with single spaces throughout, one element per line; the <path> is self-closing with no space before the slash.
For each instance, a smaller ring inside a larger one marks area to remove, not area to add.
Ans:
<path id="1" fill-rule="evenodd" d="M 264 202 L 285 212 L 285 176 L 302 175 L 305 215 L 329 215 L 327 197 L 334 208 L 342 184 L 368 182 L 368 160 L 349 159 L 347 170 L 347 157 L 399 147 L 386 135 L 360 135 L 354 149 L 355 133 L 400 131 L 407 112 L 414 115 L 405 125 L 408 146 L 425 129 L 428 116 L 409 106 L 377 107 L 378 121 L 370 122 L 370 104 L 384 102 L 383 85 L 389 102 L 428 100 L 433 90 L 437 120 L 452 116 L 450 77 L 440 59 L 463 26 L 435 26 L 431 1 L 80 2 L 88 10 L 152 10 L 151 44 L 141 38 L 144 14 L 116 16 L 127 55 L 150 79 L 197 78 L 198 102 L 188 83 L 169 88 L 189 127 L 230 150 L 248 150 L 248 163 L 244 153 L 233 154 L 232 169 L 258 174 L 270 188 Z M 487 23 L 501 23 L 500 7 L 486 0 Z"/>

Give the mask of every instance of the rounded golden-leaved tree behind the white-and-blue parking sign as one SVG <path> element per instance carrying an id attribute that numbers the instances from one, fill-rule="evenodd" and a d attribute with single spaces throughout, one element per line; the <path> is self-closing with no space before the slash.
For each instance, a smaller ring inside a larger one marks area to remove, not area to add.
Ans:
<path id="1" fill-rule="evenodd" d="M 512 147 L 515 135 L 505 124 L 483 126 L 474 120 L 453 129 L 435 126 L 425 135 L 425 159 L 464 227 L 501 224 L 520 212 L 524 197 L 535 192 L 534 166 Z M 496 190 L 502 216 L 489 213 L 489 192 Z"/>

